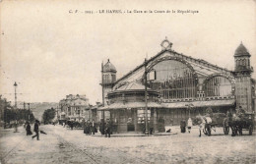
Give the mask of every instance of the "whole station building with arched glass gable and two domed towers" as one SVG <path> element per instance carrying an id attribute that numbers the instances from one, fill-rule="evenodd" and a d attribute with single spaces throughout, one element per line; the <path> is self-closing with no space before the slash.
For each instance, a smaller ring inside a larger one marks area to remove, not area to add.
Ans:
<path id="1" fill-rule="evenodd" d="M 161 51 L 116 81 L 116 69 L 108 60 L 102 65 L 101 118 L 116 124 L 116 132 L 143 131 L 146 118 L 145 83 L 149 127 L 179 125 L 180 121 L 207 108 L 226 112 L 242 106 L 255 111 L 255 81 L 250 54 L 241 43 L 234 51 L 234 71 L 175 52 L 167 39 Z M 119 126 L 119 127 L 118 127 Z"/>

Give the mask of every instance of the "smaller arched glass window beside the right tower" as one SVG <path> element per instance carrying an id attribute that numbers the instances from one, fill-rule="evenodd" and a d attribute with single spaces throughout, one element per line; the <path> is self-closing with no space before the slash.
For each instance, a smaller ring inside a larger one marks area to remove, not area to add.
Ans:
<path id="1" fill-rule="evenodd" d="M 227 96 L 232 95 L 231 82 L 228 79 L 218 76 L 205 83 L 206 96 Z"/>

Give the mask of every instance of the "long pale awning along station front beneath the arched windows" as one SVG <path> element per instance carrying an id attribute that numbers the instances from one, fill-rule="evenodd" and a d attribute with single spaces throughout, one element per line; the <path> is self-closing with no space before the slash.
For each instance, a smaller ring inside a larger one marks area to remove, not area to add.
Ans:
<path id="1" fill-rule="evenodd" d="M 211 107 L 211 106 L 232 106 L 234 99 L 209 100 L 209 101 L 192 101 L 192 102 L 171 102 L 161 103 L 166 108 L 187 108 L 187 104 L 193 104 L 193 107 Z"/>

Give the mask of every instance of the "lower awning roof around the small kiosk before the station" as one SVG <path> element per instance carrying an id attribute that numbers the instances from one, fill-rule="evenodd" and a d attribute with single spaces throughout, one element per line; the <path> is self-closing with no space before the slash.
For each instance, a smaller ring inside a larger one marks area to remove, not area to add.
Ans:
<path id="1" fill-rule="evenodd" d="M 149 108 L 162 108 L 160 103 L 148 102 Z M 145 102 L 116 102 L 104 107 L 98 108 L 98 110 L 111 110 L 111 109 L 127 109 L 127 108 L 145 108 Z"/>

